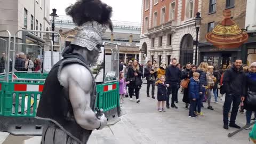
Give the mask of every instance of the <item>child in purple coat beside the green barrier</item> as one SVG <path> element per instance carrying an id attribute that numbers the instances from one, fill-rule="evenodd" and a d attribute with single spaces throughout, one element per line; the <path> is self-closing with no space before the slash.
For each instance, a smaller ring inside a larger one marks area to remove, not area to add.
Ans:
<path id="1" fill-rule="evenodd" d="M 130 82 L 125 82 L 124 73 L 119 73 L 119 96 L 120 96 L 120 103 L 124 102 L 124 96 L 126 94 L 126 84 Z"/>

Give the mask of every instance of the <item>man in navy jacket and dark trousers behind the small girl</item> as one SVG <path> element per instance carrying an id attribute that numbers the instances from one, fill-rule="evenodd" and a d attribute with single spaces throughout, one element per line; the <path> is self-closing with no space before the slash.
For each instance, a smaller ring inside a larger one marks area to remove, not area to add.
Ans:
<path id="1" fill-rule="evenodd" d="M 166 68 L 165 70 L 165 77 L 166 77 L 166 84 L 169 84 L 170 86 L 167 89 L 167 101 L 166 101 L 166 108 L 170 108 L 170 94 L 172 92 L 172 108 L 178 108 L 175 106 L 174 101 L 178 97 L 178 91 L 179 85 L 180 85 L 180 77 L 181 77 L 181 71 L 179 68 L 176 67 L 177 60 L 175 58 L 172 59 L 172 65 Z"/>

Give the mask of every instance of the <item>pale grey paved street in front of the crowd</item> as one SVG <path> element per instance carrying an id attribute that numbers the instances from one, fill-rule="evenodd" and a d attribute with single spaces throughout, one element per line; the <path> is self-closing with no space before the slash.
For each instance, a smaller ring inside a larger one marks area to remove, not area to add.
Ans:
<path id="1" fill-rule="evenodd" d="M 157 100 L 146 97 L 146 85 L 143 84 L 140 91 L 140 104 L 125 98 L 122 108 L 127 114 L 121 117 L 122 121 L 113 126 L 108 126 L 102 131 L 94 131 L 89 143 L 248 143 L 248 130 L 244 130 L 232 138 L 227 137 L 229 132 L 236 129 L 224 130 L 222 128 L 221 102 L 212 103 L 214 111 L 203 108 L 204 116 L 193 119 L 188 117 L 188 110 L 183 108 L 185 105 L 181 100 L 182 95 L 179 94 L 180 102 L 177 104 L 179 109 L 167 109 L 166 112 L 160 113 L 156 107 Z M 204 105 L 206 106 L 206 103 Z M 238 114 L 237 124 L 241 126 L 245 124 L 245 115 Z M 0 135 L 1 139 L 5 139 L 2 135 Z M 41 137 L 14 137 L 9 135 L 3 144 L 22 143 L 22 141 L 26 144 L 39 144 L 40 139 Z"/>

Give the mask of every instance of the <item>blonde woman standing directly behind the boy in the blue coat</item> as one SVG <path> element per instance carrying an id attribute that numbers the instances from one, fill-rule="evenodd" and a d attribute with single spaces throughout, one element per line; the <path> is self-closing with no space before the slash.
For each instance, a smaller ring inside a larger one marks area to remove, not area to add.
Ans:
<path id="1" fill-rule="evenodd" d="M 197 114 L 198 115 L 203 115 L 202 111 L 201 111 L 201 107 L 203 106 L 203 99 L 204 99 L 204 95 L 205 95 L 205 86 L 207 86 L 207 79 L 206 79 L 206 71 L 208 69 L 208 63 L 207 62 L 201 62 L 199 67 L 197 68 L 196 72 L 199 73 L 199 83 L 200 86 L 202 86 L 202 94 L 199 94 L 199 99 L 201 99 L 198 103 L 197 103 Z"/>

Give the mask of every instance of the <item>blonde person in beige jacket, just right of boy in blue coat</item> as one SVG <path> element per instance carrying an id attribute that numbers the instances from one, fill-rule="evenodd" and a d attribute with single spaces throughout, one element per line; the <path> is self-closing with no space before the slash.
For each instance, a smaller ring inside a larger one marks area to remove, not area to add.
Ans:
<path id="1" fill-rule="evenodd" d="M 207 109 L 213 110 L 211 106 L 211 98 L 212 98 L 212 89 L 216 82 L 216 78 L 213 76 L 213 66 L 209 66 L 207 68 L 206 79 L 207 79 L 206 96 L 207 96 L 207 102 L 208 102 Z"/>

